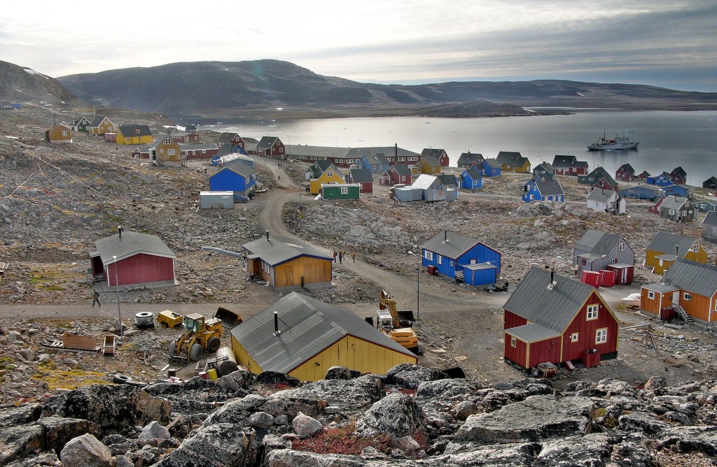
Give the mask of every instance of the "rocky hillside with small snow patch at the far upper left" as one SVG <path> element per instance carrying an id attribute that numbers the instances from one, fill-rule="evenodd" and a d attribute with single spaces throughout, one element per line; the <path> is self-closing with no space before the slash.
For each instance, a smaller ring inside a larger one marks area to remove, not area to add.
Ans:
<path id="1" fill-rule="evenodd" d="M 77 103 L 60 82 L 27 67 L 0 61 L 0 100 L 29 102 L 47 100 L 52 104 Z"/>

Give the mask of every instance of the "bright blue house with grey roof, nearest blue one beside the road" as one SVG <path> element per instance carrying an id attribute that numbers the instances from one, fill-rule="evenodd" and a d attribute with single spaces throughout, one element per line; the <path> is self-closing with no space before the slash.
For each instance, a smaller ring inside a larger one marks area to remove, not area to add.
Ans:
<path id="1" fill-rule="evenodd" d="M 422 251 L 422 266 L 429 273 L 473 286 L 495 284 L 500 277 L 500 252 L 458 233 L 442 231 Z"/>

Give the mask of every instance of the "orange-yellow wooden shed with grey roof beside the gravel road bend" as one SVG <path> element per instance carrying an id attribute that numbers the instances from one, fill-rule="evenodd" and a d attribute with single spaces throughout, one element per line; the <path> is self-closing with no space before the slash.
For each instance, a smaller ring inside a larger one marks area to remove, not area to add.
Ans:
<path id="1" fill-rule="evenodd" d="M 247 276 L 260 276 L 277 290 L 307 285 L 331 285 L 333 256 L 323 254 L 300 240 L 278 236 L 262 237 L 242 245 Z"/>

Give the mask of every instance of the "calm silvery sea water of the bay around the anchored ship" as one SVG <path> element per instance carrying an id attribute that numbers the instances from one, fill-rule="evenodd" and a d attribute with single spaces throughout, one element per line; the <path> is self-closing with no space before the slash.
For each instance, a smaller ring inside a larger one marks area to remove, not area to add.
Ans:
<path id="1" fill-rule="evenodd" d="M 534 167 L 552 163 L 555 155 L 574 155 L 590 170 L 604 167 L 614 174 L 630 163 L 635 173 L 651 175 L 681 166 L 688 184 L 702 186 L 717 176 L 717 112 L 579 111 L 569 115 L 531 117 L 435 118 L 372 117 L 326 120 L 277 120 L 238 125 L 205 125 L 260 139 L 279 137 L 285 145 L 342 148 L 393 146 L 420 153 L 444 149 L 451 165 L 461 153 L 495 158 L 500 151 L 517 151 Z M 588 151 L 603 134 L 627 132 L 640 141 L 637 150 Z"/>

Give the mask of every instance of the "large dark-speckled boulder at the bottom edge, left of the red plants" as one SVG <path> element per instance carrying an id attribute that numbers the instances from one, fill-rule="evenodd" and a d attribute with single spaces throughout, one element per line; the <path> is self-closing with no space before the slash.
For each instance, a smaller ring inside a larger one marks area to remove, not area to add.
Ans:
<path id="1" fill-rule="evenodd" d="M 199 428 L 154 467 L 241 467 L 253 465 L 254 430 L 231 423 Z"/>

